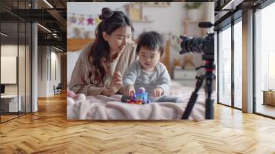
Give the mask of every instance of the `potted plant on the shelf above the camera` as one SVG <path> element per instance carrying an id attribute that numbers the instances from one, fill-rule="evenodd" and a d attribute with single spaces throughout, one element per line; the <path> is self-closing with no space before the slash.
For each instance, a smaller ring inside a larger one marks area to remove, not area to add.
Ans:
<path id="1" fill-rule="evenodd" d="M 189 20 L 199 21 L 202 18 L 202 12 L 200 10 L 202 3 L 201 2 L 188 2 L 184 5 L 184 8 L 187 10 L 187 16 Z"/>

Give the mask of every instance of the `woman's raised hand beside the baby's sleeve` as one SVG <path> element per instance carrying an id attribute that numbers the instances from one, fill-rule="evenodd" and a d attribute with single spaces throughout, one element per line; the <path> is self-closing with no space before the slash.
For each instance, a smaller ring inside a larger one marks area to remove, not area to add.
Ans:
<path id="1" fill-rule="evenodd" d="M 112 96 L 117 93 L 120 87 L 122 87 L 122 76 L 120 72 L 115 72 L 109 86 L 110 95 Z"/>

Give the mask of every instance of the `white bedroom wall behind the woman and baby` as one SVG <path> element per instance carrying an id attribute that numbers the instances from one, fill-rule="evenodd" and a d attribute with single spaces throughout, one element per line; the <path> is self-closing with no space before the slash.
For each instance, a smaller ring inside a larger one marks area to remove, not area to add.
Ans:
<path id="1" fill-rule="evenodd" d="M 102 8 L 111 8 L 111 10 L 121 10 L 126 12 L 124 5 L 130 2 L 68 2 L 67 3 L 67 17 L 72 17 L 72 14 L 84 14 L 87 19 L 87 15 L 91 14 L 93 16 L 99 16 L 101 14 Z M 137 23 L 133 22 L 133 27 L 135 28 L 135 39 L 144 30 L 157 30 L 162 33 L 169 33 L 180 35 L 183 33 L 184 25 L 183 20 L 187 17 L 186 10 L 184 8 L 184 2 L 173 2 L 169 7 L 166 8 L 153 8 L 153 7 L 143 7 L 142 16 L 148 16 L 153 20 L 152 23 Z M 214 22 L 214 3 L 203 3 L 201 5 L 201 14 L 204 15 L 203 19 L 206 21 Z M 79 15 L 77 16 L 79 17 Z M 193 26 L 194 27 L 194 26 Z M 197 27 L 197 25 L 195 25 Z M 69 24 L 68 31 L 72 32 L 74 28 L 80 28 L 84 31 L 89 30 L 94 32 L 96 29 L 96 24 L 94 25 L 79 25 L 79 24 Z M 188 29 L 191 32 L 188 34 L 196 33 L 198 28 Z M 73 36 L 67 35 L 68 38 Z"/>

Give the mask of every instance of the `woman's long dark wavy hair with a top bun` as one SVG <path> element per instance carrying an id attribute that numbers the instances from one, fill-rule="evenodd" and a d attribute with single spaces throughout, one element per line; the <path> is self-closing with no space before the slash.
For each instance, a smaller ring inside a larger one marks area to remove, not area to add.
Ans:
<path id="1" fill-rule="evenodd" d="M 118 28 L 126 25 L 131 27 L 132 32 L 134 31 L 131 20 L 121 11 L 112 11 L 109 8 L 102 8 L 102 14 L 99 18 L 102 21 L 96 28 L 96 40 L 93 45 L 91 45 L 89 53 L 89 57 L 93 59 L 93 61 L 90 61 L 89 58 L 89 62 L 95 67 L 92 73 L 94 73 L 95 79 L 98 80 L 97 84 L 104 83 L 104 78 L 111 76 L 109 44 L 103 39 L 102 32 L 106 32 L 110 35 Z"/>

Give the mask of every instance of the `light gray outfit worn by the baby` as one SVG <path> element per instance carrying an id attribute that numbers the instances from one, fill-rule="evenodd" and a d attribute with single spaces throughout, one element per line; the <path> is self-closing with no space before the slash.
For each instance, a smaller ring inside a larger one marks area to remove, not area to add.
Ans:
<path id="1" fill-rule="evenodd" d="M 144 87 L 151 102 L 181 102 L 181 99 L 178 97 L 166 96 L 169 94 L 171 85 L 170 76 L 164 64 L 160 62 L 157 63 L 153 72 L 144 72 L 140 62 L 138 60 L 133 61 L 123 76 L 124 89 L 128 85 L 133 85 L 135 87 L 135 91 L 137 91 L 140 87 Z M 160 98 L 156 99 L 153 98 L 153 96 L 154 89 L 157 87 L 164 89 L 164 94 Z M 126 99 L 126 96 L 123 98 Z"/>

